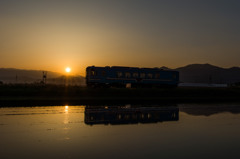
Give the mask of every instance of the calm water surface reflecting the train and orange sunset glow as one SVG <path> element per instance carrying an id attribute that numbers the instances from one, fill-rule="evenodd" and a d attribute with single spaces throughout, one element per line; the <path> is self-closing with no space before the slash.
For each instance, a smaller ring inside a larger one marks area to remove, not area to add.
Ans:
<path id="1" fill-rule="evenodd" d="M 238 158 L 240 105 L 0 108 L 0 157 Z"/>

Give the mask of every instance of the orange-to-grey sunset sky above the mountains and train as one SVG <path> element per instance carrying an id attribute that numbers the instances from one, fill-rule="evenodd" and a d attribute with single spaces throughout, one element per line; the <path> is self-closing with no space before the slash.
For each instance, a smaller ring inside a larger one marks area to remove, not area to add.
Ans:
<path id="1" fill-rule="evenodd" d="M 240 66 L 239 0 L 1 0 L 0 68 Z"/>

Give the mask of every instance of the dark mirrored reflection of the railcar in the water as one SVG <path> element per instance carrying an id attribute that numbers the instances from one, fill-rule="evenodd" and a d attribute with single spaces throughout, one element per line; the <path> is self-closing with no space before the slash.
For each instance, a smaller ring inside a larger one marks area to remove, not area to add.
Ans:
<path id="1" fill-rule="evenodd" d="M 86 106 L 85 123 L 137 124 L 178 121 L 178 107 Z"/>

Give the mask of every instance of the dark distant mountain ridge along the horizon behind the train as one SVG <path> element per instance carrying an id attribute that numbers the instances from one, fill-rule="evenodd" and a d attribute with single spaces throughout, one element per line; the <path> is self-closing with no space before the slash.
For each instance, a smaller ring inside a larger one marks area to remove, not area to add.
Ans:
<path id="1" fill-rule="evenodd" d="M 160 67 L 164 70 L 176 70 L 180 74 L 181 83 L 215 83 L 230 84 L 240 82 L 240 67 L 221 68 L 211 64 L 190 64 L 176 69 L 166 66 Z M 48 81 L 51 83 L 64 83 L 65 76 L 60 73 L 48 71 Z M 82 76 L 69 77 L 74 83 L 85 84 Z M 42 80 L 40 70 L 21 70 L 13 68 L 0 68 L 0 81 L 4 83 L 33 83 Z"/>

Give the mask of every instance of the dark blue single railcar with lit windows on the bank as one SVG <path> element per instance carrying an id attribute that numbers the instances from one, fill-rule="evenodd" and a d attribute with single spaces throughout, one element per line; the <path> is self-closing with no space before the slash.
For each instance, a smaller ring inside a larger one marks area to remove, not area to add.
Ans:
<path id="1" fill-rule="evenodd" d="M 179 72 L 159 68 L 89 66 L 86 83 L 88 87 L 177 87 Z"/>

